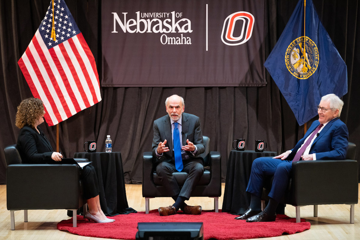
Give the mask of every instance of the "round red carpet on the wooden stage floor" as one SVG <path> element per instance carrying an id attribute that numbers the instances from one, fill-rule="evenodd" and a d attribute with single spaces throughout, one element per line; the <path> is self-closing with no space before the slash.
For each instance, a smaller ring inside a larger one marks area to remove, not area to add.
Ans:
<path id="1" fill-rule="evenodd" d="M 180 211 L 181 212 L 181 211 Z M 72 227 L 72 219 L 58 223 L 57 228 L 73 234 L 89 237 L 104 237 L 114 239 L 135 239 L 138 222 L 203 222 L 204 239 L 219 240 L 247 239 L 256 237 L 274 237 L 282 234 L 294 234 L 310 229 L 310 223 L 301 219 L 296 223 L 295 218 L 278 215 L 275 222 L 248 223 L 245 220 L 235 220 L 236 216 L 230 213 L 215 213 L 203 211 L 201 215 L 176 214 L 159 216 L 158 210 L 130 213 L 111 217 L 113 223 L 94 223 L 77 216 L 77 227 Z"/>

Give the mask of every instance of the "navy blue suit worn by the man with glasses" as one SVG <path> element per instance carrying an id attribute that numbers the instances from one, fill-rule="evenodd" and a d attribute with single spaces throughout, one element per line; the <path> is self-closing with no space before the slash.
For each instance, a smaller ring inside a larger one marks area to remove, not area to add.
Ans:
<path id="1" fill-rule="evenodd" d="M 305 136 L 298 141 L 289 156 L 284 159 L 269 157 L 257 158 L 252 163 L 251 174 L 246 191 L 261 198 L 263 182 L 266 177 L 274 176 L 269 197 L 279 202 L 284 195 L 291 173 L 292 160 L 305 139 L 318 127 L 314 121 Z M 316 160 L 345 159 L 348 145 L 348 130 L 339 118 L 334 118 L 324 126 L 311 145 L 309 154 L 316 153 Z"/>

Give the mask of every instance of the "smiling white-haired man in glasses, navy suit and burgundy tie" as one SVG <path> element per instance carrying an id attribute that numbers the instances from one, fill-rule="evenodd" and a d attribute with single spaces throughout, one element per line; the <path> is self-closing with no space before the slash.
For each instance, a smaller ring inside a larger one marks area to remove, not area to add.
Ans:
<path id="1" fill-rule="evenodd" d="M 345 159 L 348 131 L 345 123 L 339 119 L 343 104 L 335 94 L 323 96 L 318 106 L 319 120 L 311 124 L 292 150 L 274 158 L 262 157 L 253 161 L 246 189 L 251 195 L 250 206 L 235 219 L 246 219 L 247 222 L 275 221 L 275 210 L 287 188 L 292 162 Z M 263 182 L 269 176 L 274 176 L 270 200 L 264 211 L 261 211 Z"/>

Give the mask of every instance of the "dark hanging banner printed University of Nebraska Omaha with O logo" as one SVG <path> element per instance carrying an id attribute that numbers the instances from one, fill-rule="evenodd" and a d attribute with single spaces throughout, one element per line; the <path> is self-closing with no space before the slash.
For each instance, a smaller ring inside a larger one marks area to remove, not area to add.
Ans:
<path id="1" fill-rule="evenodd" d="M 102 1 L 103 87 L 265 86 L 265 0 Z"/>

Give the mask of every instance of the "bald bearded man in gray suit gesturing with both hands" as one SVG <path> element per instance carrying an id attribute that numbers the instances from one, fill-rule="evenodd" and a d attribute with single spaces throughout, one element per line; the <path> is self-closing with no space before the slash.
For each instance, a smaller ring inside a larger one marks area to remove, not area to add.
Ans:
<path id="1" fill-rule="evenodd" d="M 184 202 L 189 200 L 204 172 L 203 159 L 198 157 L 205 151 L 200 118 L 184 113 L 184 99 L 178 95 L 168 97 L 165 107 L 168 114 L 154 121 L 152 153 L 157 159 L 158 178 L 175 203 L 159 208 L 159 214 L 173 215 L 179 209 L 186 214 L 201 214 L 201 206 L 189 206 Z M 181 190 L 172 175 L 176 171 L 188 173 Z"/>

